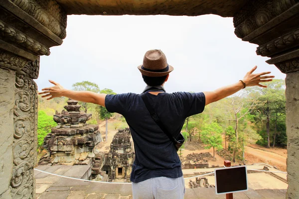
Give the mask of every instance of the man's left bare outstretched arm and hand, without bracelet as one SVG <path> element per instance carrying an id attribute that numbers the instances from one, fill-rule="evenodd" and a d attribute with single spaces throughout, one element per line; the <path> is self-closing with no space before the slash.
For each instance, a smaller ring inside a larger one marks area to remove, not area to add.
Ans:
<path id="1" fill-rule="evenodd" d="M 49 80 L 49 82 L 54 86 L 42 89 L 43 92 L 38 93 L 39 95 L 45 94 L 41 96 L 42 98 L 49 97 L 47 100 L 51 100 L 58 97 L 67 97 L 72 100 L 96 103 L 105 107 L 105 98 L 107 94 L 97 94 L 90 91 L 72 91 L 64 89 L 60 84 L 52 80 Z"/>

